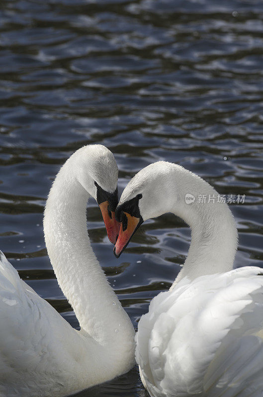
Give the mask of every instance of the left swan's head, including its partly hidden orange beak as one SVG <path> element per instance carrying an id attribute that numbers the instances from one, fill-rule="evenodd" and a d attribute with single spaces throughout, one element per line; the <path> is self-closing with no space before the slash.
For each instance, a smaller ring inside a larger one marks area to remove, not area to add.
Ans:
<path id="1" fill-rule="evenodd" d="M 109 241 L 115 244 L 120 223 L 115 219 L 118 204 L 118 167 L 109 149 L 103 145 L 87 145 L 77 150 L 77 179 L 97 201 Z"/>

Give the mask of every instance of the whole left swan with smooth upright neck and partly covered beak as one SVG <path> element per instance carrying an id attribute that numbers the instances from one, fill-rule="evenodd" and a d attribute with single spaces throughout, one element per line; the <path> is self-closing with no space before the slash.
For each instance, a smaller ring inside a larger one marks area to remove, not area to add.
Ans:
<path id="1" fill-rule="evenodd" d="M 127 372 L 134 328 L 89 242 L 86 205 L 100 205 L 110 240 L 119 224 L 118 168 L 102 145 L 77 150 L 62 166 L 44 212 L 44 235 L 76 331 L 0 258 L 0 397 L 69 396 Z"/>

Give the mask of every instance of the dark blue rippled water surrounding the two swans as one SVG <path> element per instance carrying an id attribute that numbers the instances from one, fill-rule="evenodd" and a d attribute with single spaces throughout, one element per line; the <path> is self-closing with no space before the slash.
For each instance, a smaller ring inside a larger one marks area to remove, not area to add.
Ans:
<path id="1" fill-rule="evenodd" d="M 46 254 L 42 213 L 52 180 L 79 147 L 115 155 L 119 190 L 169 160 L 232 204 L 236 266 L 263 267 L 263 2 L 2 0 L 0 248 L 73 327 Z M 93 248 L 134 326 L 168 289 L 190 241 L 182 221 L 146 222 L 112 255 L 100 211 Z M 79 396 L 145 396 L 137 369 Z"/>

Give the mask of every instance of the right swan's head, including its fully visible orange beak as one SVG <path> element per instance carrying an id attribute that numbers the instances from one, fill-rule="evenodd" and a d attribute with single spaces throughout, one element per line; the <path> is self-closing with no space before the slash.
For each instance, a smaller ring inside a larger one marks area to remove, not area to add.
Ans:
<path id="1" fill-rule="evenodd" d="M 174 164 L 159 161 L 139 171 L 124 189 L 115 217 L 121 223 L 118 240 L 113 253 L 119 258 L 132 236 L 149 218 L 171 211 L 171 185 L 169 175 Z M 171 195 L 173 197 L 173 195 Z"/>

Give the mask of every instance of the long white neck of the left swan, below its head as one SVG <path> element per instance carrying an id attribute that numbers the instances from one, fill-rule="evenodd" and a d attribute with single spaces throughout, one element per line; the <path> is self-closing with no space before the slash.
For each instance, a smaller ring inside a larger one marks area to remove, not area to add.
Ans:
<path id="1" fill-rule="evenodd" d="M 134 329 L 93 254 L 86 221 L 89 194 L 73 168 L 69 161 L 62 167 L 46 203 L 47 251 L 82 332 L 118 351 L 120 345 L 131 345 Z"/>

